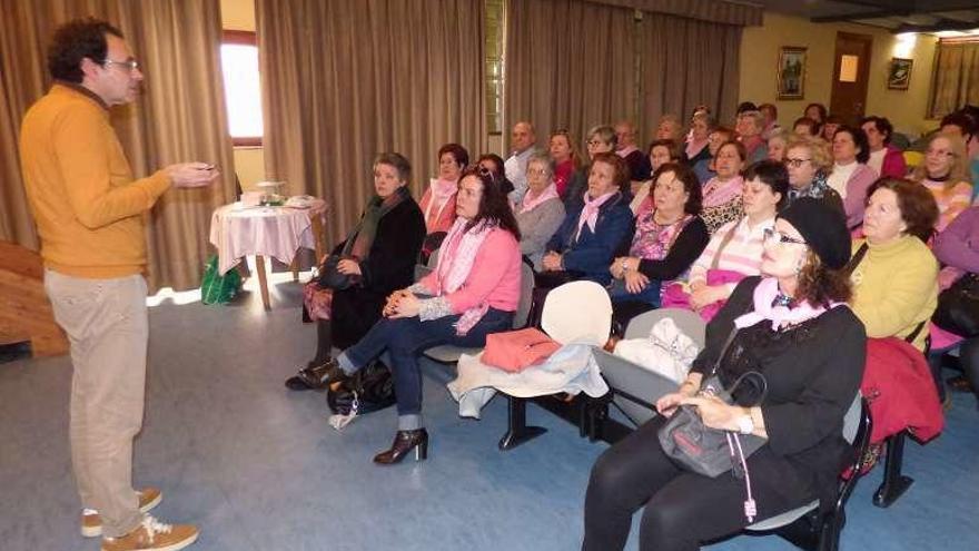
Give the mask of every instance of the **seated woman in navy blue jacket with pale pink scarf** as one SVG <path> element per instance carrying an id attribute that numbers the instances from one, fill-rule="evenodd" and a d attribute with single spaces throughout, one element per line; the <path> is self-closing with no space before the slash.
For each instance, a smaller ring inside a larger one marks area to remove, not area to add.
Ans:
<path id="1" fill-rule="evenodd" d="M 622 195 L 629 186 L 629 167 L 614 152 L 592 157 L 589 189 L 583 205 L 567 211 L 564 222 L 547 243 L 548 253 L 541 262 L 544 281 L 555 276 L 546 273 L 566 273 L 560 279 L 583 278 L 609 283 L 609 263 L 615 250 L 632 235 L 633 218 L 629 203 Z"/>

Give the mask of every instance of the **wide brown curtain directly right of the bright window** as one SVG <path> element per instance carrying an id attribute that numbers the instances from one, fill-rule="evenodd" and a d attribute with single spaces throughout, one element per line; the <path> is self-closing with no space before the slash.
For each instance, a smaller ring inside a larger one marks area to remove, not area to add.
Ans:
<path id="1" fill-rule="evenodd" d="M 266 173 L 326 199 L 346 235 L 373 194 L 370 163 L 398 151 L 414 195 L 438 148 L 485 150 L 481 0 L 257 0 Z"/>

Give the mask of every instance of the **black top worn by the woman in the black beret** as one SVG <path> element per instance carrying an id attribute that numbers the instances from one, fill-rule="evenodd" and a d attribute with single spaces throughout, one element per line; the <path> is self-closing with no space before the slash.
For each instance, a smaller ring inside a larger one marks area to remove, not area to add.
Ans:
<path id="1" fill-rule="evenodd" d="M 693 361 L 691 372 L 711 373 L 734 329 L 734 319 L 754 309 L 754 288 L 760 281 L 758 276 L 745 277 L 734 288 L 708 324 L 706 346 Z M 718 374 L 724 385 L 748 370 L 765 376 L 768 394 L 761 411 L 769 435 L 767 446 L 775 457 L 758 465 L 752 479 L 777 480 L 787 492 L 804 481 L 821 505 L 832 503 L 841 462 L 851 450 L 842 436 L 843 416 L 860 388 L 866 357 L 863 324 L 847 306 L 831 308 L 784 332 L 775 333 L 771 322 L 760 322 L 738 333 Z M 736 399 L 751 402 L 735 392 Z M 749 459 L 750 466 L 752 460 L 754 455 Z"/>

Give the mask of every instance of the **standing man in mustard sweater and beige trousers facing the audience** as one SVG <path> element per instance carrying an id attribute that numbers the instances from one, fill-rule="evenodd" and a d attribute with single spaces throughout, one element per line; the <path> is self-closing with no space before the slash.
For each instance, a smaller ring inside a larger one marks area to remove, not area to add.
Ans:
<path id="1" fill-rule="evenodd" d="M 149 336 L 144 215 L 171 186 L 207 186 L 218 173 L 187 163 L 132 178 L 109 108 L 136 99 L 142 73 L 111 24 L 60 27 L 48 69 L 55 83 L 23 118 L 20 157 L 44 288 L 71 343 L 69 433 L 81 533 L 102 535 L 102 551 L 182 549 L 197 529 L 146 514 L 160 491 L 132 489 Z"/>

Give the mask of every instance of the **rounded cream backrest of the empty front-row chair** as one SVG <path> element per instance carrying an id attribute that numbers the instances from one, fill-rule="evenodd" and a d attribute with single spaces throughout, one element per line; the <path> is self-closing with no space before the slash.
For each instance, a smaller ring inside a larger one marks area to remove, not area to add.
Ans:
<path id="1" fill-rule="evenodd" d="M 547 293 L 541 327 L 561 344 L 602 346 L 612 331 L 612 301 L 595 282 L 571 282 Z"/>

